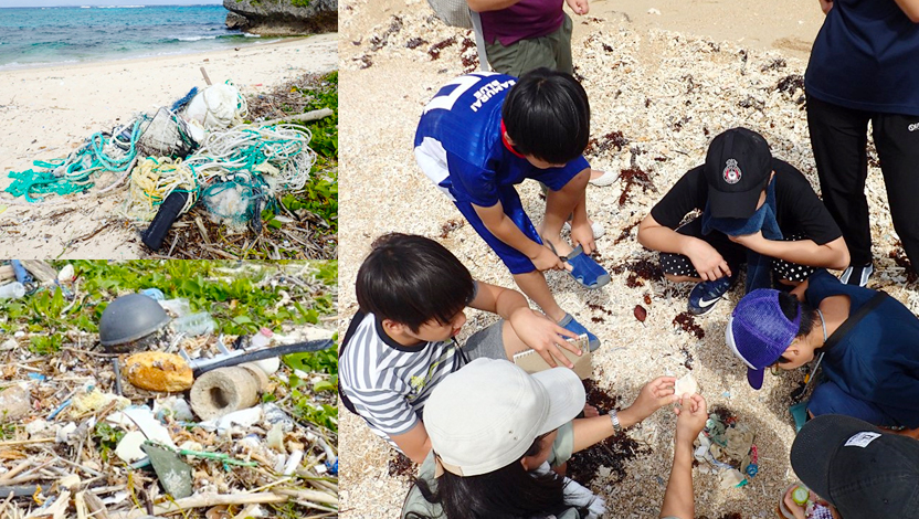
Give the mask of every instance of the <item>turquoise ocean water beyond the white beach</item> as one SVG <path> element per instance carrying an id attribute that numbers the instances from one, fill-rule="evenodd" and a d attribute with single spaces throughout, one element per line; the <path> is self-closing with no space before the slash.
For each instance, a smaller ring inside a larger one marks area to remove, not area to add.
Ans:
<path id="1" fill-rule="evenodd" d="M 240 46 L 223 6 L 0 9 L 0 70 Z"/>

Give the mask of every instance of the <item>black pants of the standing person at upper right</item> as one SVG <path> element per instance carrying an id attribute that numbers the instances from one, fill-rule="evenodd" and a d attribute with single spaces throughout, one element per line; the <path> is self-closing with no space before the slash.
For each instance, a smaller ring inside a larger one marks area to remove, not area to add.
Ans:
<path id="1" fill-rule="evenodd" d="M 872 227 L 865 198 L 868 121 L 894 229 L 913 268 L 919 268 L 919 116 L 856 110 L 807 96 L 807 126 L 823 203 L 843 231 L 852 265 L 870 263 Z"/>

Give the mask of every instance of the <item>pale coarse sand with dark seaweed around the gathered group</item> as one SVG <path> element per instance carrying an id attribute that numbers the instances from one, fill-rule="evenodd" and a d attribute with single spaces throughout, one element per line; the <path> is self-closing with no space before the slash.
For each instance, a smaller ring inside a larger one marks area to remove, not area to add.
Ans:
<path id="1" fill-rule="evenodd" d="M 468 60 L 475 53 L 468 32 L 433 20 L 421 0 L 344 0 L 340 12 L 340 331 L 357 309 L 358 266 L 371 241 L 385 232 L 440 240 L 475 277 L 513 286 L 469 226 L 455 229 L 462 215 L 412 155 L 424 104 L 442 84 L 475 67 Z M 762 391 L 749 388 L 742 366 L 723 343 L 725 322 L 740 290 L 696 319 L 693 332 L 675 325 L 690 287 L 642 275 L 642 262 L 655 265 L 657 255 L 638 245 L 634 226 L 676 179 L 701 163 L 709 139 L 732 126 L 761 131 L 775 156 L 796 165 L 817 186 L 803 92 L 796 86 L 822 23 L 817 2 L 601 0 L 592 3 L 589 17 L 574 21 L 574 64 L 591 99 L 596 139 L 588 158 L 600 169 L 635 167 L 647 173 L 647 181 L 588 189 L 589 214 L 606 229 L 598 245 L 601 262 L 613 272 L 612 283 L 588 292 L 551 273 L 550 286 L 561 306 L 591 324 L 603 340 L 593 378 L 609 394 L 628 403 L 654 377 L 691 370 L 710 406 L 727 407 L 757 431 L 761 463 L 752 485 L 722 489 L 716 474 L 694 470 L 697 517 L 774 517 L 781 490 L 794 480 L 788 462 L 794 437 L 788 405 L 801 373 L 768 377 Z M 451 43 L 451 38 L 456 39 Z M 441 52 L 432 52 L 434 46 Z M 627 144 L 617 147 L 615 133 Z M 527 182 L 520 193 L 538 222 L 543 208 L 538 187 Z M 888 257 L 901 250 L 875 168 L 867 193 L 878 258 L 873 286 L 916 311 L 915 284 L 905 285 L 902 268 Z M 648 311 L 644 324 L 633 317 L 636 305 Z M 469 317 L 465 333 L 492 319 L 477 313 Z M 606 517 L 657 517 L 674 425 L 670 412 L 653 415 L 644 427 L 647 452 L 626 463 L 623 479 L 591 483 L 608 499 Z M 408 480 L 389 475 L 393 451 L 347 411 L 341 412 L 339 438 L 342 517 L 397 517 Z"/>

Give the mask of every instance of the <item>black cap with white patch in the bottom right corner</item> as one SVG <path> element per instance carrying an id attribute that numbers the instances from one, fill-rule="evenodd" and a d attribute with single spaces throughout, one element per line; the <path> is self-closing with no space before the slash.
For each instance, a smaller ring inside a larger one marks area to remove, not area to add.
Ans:
<path id="1" fill-rule="evenodd" d="M 919 439 L 821 415 L 794 438 L 791 466 L 843 519 L 919 518 Z"/>

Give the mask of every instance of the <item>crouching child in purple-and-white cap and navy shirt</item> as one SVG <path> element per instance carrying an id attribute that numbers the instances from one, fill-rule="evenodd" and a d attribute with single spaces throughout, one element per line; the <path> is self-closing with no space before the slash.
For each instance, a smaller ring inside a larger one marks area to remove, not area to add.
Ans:
<path id="1" fill-rule="evenodd" d="M 847 285 L 820 269 L 794 289 L 748 294 L 726 338 L 762 386 L 767 368 L 794 370 L 823 352 L 812 416 L 844 414 L 919 436 L 919 318 L 883 292 Z"/>

